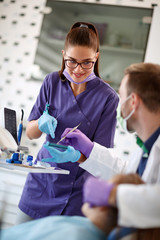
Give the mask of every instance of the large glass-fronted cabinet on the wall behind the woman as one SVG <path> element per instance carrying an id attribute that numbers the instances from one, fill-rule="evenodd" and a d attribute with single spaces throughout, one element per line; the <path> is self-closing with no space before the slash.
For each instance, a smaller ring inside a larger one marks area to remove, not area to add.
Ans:
<path id="1" fill-rule="evenodd" d="M 107 4 L 47 1 L 52 12 L 44 16 L 35 65 L 34 79 L 43 80 L 61 67 L 64 39 L 74 22 L 92 22 L 100 35 L 100 75 L 116 90 L 124 69 L 144 60 L 152 9 Z M 147 19 L 147 21 L 146 21 Z"/>

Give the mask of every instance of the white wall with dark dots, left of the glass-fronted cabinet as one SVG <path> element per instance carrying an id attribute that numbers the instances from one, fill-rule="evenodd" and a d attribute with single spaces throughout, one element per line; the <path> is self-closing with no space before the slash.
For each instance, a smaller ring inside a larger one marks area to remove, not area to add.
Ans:
<path id="1" fill-rule="evenodd" d="M 0 2 L 0 108 L 16 110 L 17 124 L 24 110 L 24 127 L 41 83 L 29 81 L 38 44 L 46 0 L 5 0 Z M 30 151 L 42 141 L 22 144 Z"/>

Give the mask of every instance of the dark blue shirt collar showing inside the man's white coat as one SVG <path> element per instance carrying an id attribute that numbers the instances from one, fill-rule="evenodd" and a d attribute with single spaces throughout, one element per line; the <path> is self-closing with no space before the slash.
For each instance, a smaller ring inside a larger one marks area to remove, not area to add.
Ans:
<path id="1" fill-rule="evenodd" d="M 157 138 L 160 135 L 160 127 L 147 139 L 147 141 L 143 142 L 139 137 L 137 137 L 137 144 L 143 150 L 143 157 L 148 157 L 151 148 Z"/>

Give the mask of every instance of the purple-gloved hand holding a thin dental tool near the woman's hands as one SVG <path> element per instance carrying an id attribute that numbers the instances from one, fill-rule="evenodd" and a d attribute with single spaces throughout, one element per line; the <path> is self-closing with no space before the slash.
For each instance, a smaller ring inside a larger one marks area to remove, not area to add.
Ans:
<path id="1" fill-rule="evenodd" d="M 70 130 L 71 128 L 65 129 L 61 137 L 66 136 L 66 138 L 62 140 L 62 142 L 66 145 L 73 146 L 88 158 L 94 145 L 93 142 L 80 130 L 76 129 L 68 133 Z"/>

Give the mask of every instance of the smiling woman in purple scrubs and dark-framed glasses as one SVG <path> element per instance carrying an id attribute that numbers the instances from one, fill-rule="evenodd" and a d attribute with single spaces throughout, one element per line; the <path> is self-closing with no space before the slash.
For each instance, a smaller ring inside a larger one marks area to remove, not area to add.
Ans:
<path id="1" fill-rule="evenodd" d="M 46 76 L 32 108 L 28 137 L 39 138 L 45 132 L 46 141 L 57 143 L 66 127 L 81 123 L 79 129 L 89 139 L 113 147 L 118 96 L 99 77 L 99 38 L 94 25 L 75 23 L 66 36 L 62 54 L 61 70 Z M 44 113 L 46 103 L 49 115 Z M 48 116 L 52 129 L 47 125 Z M 42 146 L 37 161 L 50 157 Z M 69 170 L 70 174 L 29 174 L 19 202 L 24 214 L 19 214 L 18 223 L 50 215 L 82 215 L 82 187 L 89 173 L 77 162 L 52 166 Z"/>

